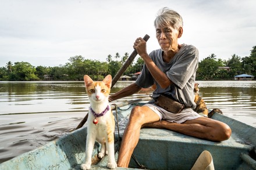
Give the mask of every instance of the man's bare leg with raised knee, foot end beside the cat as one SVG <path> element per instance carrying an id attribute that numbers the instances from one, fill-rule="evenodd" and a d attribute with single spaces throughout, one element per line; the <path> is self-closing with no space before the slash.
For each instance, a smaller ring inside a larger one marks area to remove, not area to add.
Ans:
<path id="1" fill-rule="evenodd" d="M 131 110 L 128 125 L 123 133 L 118 156 L 118 167 L 128 167 L 131 154 L 138 143 L 143 124 L 159 121 L 159 116 L 147 106 L 134 107 Z"/>

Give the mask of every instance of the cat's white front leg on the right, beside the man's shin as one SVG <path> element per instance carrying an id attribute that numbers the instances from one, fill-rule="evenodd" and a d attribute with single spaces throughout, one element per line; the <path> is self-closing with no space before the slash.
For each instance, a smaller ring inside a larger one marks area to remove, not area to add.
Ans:
<path id="1" fill-rule="evenodd" d="M 113 133 L 112 133 L 112 136 L 109 136 L 109 137 L 113 139 L 114 138 Z M 106 150 L 108 150 L 108 165 L 107 165 L 107 167 L 110 169 L 115 169 L 116 167 L 118 167 L 118 165 L 116 164 L 116 161 L 115 161 L 115 147 L 114 147 L 113 141 L 106 142 Z"/>

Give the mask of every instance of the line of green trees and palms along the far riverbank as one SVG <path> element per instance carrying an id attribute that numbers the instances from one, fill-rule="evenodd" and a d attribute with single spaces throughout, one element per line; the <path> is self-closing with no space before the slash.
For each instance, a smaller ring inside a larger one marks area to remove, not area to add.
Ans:
<path id="1" fill-rule="evenodd" d="M 123 63 L 129 57 L 128 53 L 120 56 L 116 53 L 114 57 L 108 55 L 106 62 L 86 59 L 83 56 L 70 57 L 65 65 L 46 67 L 32 66 L 28 62 L 8 62 L 6 66 L 0 67 L 0 81 L 81 81 L 84 74 L 95 80 L 101 80 L 105 75 L 111 74 L 115 77 Z M 141 71 L 143 59 L 138 57 L 131 63 L 124 75 L 131 75 Z M 229 69 L 223 69 L 229 67 Z M 256 46 L 253 46 L 250 56 L 240 57 L 232 55 L 228 60 L 217 59 L 211 54 L 198 63 L 197 80 L 229 80 L 234 75 L 250 74 L 256 76 Z"/>

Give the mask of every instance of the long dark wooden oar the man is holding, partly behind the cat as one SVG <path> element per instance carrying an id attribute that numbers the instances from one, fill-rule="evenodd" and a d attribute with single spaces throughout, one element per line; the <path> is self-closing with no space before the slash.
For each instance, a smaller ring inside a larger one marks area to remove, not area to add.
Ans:
<path id="1" fill-rule="evenodd" d="M 148 39 L 150 38 L 150 36 L 148 34 L 146 34 L 143 39 L 145 41 L 148 41 Z M 118 71 L 118 73 L 115 75 L 115 77 L 112 79 L 112 86 L 111 88 L 116 84 L 116 82 L 118 81 L 118 79 L 121 77 L 121 75 L 125 72 L 125 70 L 130 66 L 131 62 L 133 62 L 134 58 L 137 56 L 137 50 L 134 49 L 133 52 L 131 53 L 131 55 L 128 57 L 128 59 L 126 60 L 125 64 L 123 64 L 123 66 L 120 68 L 120 70 Z M 120 107 L 120 106 L 119 106 Z M 83 118 L 83 120 L 80 122 L 80 124 L 76 127 L 76 129 L 81 128 L 87 121 L 88 119 L 88 113 L 86 114 L 86 116 Z M 76 130 L 74 129 L 74 130 Z"/>

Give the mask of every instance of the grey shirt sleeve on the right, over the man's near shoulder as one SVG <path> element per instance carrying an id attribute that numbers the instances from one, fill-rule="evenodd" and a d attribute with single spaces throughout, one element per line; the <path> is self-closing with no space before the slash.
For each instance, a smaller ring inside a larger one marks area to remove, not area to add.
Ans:
<path id="1" fill-rule="evenodd" d="M 175 64 L 166 72 L 166 75 L 180 89 L 183 89 L 197 68 L 198 50 L 193 47 L 184 50 Z"/>

